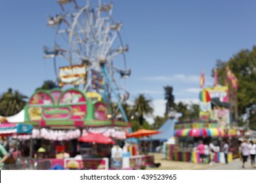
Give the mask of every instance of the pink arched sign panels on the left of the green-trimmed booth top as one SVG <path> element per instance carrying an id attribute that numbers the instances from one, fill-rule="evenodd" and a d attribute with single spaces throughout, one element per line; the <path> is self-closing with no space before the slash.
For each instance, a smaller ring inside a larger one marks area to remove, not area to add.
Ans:
<path id="1" fill-rule="evenodd" d="M 102 113 L 102 110 L 100 111 Z M 63 92 L 61 90 L 39 91 L 32 95 L 28 102 L 28 118 L 32 122 L 83 121 L 86 114 L 87 99 L 81 90 L 75 88 Z"/>

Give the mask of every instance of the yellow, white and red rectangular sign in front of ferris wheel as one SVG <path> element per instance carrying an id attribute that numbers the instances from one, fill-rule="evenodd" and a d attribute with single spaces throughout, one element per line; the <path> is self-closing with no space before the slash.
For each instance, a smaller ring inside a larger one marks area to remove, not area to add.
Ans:
<path id="1" fill-rule="evenodd" d="M 84 84 L 86 79 L 86 65 L 83 64 L 60 67 L 59 78 L 60 87 L 67 84 Z"/>

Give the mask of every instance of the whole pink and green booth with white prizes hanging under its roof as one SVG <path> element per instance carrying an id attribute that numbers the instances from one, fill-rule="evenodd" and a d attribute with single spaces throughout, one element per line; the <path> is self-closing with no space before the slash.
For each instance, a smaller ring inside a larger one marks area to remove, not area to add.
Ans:
<path id="1" fill-rule="evenodd" d="M 121 140 L 129 127 L 127 122 L 108 118 L 108 107 L 100 95 L 77 88 L 39 90 L 30 97 L 24 112 L 24 124 L 34 127 L 33 154 L 37 156 L 37 149 L 45 148 L 43 158 L 63 159 L 77 154 L 107 157 L 106 145 L 79 143 L 77 139 L 87 133 L 104 133 Z"/>

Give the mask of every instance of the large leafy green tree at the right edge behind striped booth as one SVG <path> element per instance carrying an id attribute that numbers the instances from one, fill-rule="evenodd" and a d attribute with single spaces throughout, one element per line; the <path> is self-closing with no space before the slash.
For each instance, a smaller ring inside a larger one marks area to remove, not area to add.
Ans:
<path id="1" fill-rule="evenodd" d="M 254 116 L 256 113 L 256 46 L 252 50 L 241 50 L 228 61 L 218 60 L 216 63 L 219 83 L 226 84 L 226 66 L 238 78 L 238 91 L 230 90 L 230 96 L 237 95 L 238 120 L 249 116 L 250 126 L 256 128 Z M 228 84 L 230 86 L 230 84 Z"/>

